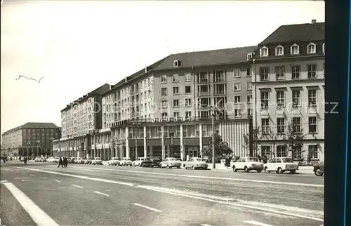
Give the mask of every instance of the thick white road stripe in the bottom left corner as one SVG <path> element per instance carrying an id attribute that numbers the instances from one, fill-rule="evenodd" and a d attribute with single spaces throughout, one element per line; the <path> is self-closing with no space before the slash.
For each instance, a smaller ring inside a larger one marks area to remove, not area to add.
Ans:
<path id="1" fill-rule="evenodd" d="M 13 194 L 13 197 L 21 204 L 21 206 L 27 211 L 30 217 L 33 219 L 37 225 L 51 225 L 55 226 L 58 223 L 50 218 L 39 206 L 34 204 L 34 202 L 25 195 L 18 187 L 15 187 L 11 182 L 4 182 L 7 189 Z M 59 225 L 58 225 L 59 226 Z"/>

